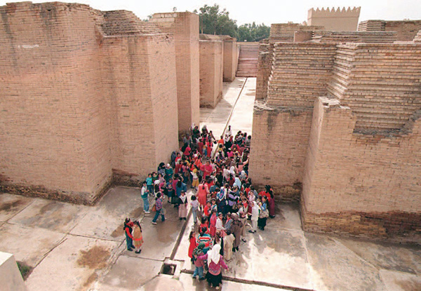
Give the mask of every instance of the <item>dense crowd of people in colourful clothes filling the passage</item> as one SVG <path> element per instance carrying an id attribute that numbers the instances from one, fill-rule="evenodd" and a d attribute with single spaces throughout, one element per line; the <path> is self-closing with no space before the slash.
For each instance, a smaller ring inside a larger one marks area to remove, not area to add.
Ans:
<path id="1" fill-rule="evenodd" d="M 152 224 L 160 215 L 165 221 L 164 201 L 178 208 L 180 220 L 187 219 L 190 205 L 194 227 L 189 257 L 196 266 L 193 278 L 206 278 L 214 287 L 221 283 L 221 270 L 227 269 L 225 260 L 239 251 L 241 241 L 246 242 L 246 228 L 251 234 L 258 229 L 264 231 L 267 218 L 275 216 L 272 188 L 267 185 L 258 193 L 248 177 L 250 141 L 247 133 L 233 135 L 231 126 L 219 140 L 206 126 L 201 130 L 192 126 L 183 137 L 180 151 L 171 154 L 171 163 L 160 163 L 142 184 L 145 213 L 150 212 L 149 197 L 155 198 Z M 189 198 L 187 187 L 195 192 Z M 125 223 L 128 250 L 133 239 L 130 227 Z"/>

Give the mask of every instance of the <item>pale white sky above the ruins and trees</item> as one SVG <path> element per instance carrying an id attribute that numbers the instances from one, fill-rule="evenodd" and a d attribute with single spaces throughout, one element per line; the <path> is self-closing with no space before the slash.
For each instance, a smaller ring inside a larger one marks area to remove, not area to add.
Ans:
<path id="1" fill-rule="evenodd" d="M 0 0 L 0 5 L 6 2 L 19 2 L 13 0 Z M 46 1 L 32 1 L 41 3 Z M 74 2 L 74 1 L 62 1 Z M 298 22 L 307 20 L 307 11 L 310 8 L 322 7 L 354 7 L 361 6 L 359 21 L 380 19 L 380 20 L 411 20 L 421 19 L 421 0 L 80 0 L 78 3 L 88 4 L 92 8 L 102 11 L 126 9 L 133 11 L 139 18 L 145 19 L 147 15 L 158 12 L 173 11 L 194 11 L 204 4 L 219 4 L 221 8 L 226 8 L 232 19 L 237 20 L 239 25 L 256 22 L 270 25 L 272 23 Z"/>

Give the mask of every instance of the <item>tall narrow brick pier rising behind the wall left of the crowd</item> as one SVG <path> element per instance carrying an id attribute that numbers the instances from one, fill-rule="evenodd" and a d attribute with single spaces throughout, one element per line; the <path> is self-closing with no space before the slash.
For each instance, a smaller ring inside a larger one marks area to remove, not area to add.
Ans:
<path id="1" fill-rule="evenodd" d="M 199 124 L 199 15 L 190 12 L 155 13 L 149 22 L 175 39 L 178 130 Z"/>

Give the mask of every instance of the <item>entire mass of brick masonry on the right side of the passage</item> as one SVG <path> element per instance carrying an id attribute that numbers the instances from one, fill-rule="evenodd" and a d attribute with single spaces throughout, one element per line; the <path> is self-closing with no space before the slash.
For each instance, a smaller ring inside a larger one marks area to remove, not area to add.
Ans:
<path id="1" fill-rule="evenodd" d="M 287 26 L 272 27 L 260 42 L 253 184 L 300 201 L 306 231 L 410 241 L 421 231 L 421 33 L 394 43 L 399 32 L 297 29 L 279 42 Z"/>

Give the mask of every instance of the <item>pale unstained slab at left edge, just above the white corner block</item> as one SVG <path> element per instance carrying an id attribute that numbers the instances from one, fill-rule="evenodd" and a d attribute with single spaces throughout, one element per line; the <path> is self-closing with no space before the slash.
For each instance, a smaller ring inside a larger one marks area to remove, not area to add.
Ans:
<path id="1" fill-rule="evenodd" d="M 15 255 L 18 261 L 36 266 L 57 245 L 65 234 L 48 229 L 4 224 L 0 227 L 0 250 Z"/>

